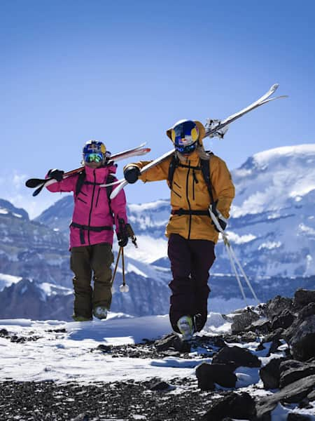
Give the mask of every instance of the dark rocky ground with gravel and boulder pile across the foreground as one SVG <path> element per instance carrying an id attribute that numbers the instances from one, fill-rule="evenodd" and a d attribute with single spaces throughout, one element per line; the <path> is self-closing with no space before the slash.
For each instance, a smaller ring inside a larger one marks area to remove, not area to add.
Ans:
<path id="1" fill-rule="evenodd" d="M 189 344 L 167 335 L 92 349 L 113 358 L 193 359 L 196 353 L 211 358 L 197 367 L 195 378 L 169 384 L 158 378 L 97 385 L 2 382 L 0 420 L 315 420 L 315 291 L 297 290 L 293 299 L 278 296 L 225 317 L 232 321 L 230 335 L 200 336 Z M 27 340 L 4 330 L 0 335 L 12 342 Z M 267 364 L 244 347 L 253 342 L 257 351 L 272 356 Z M 237 389 L 239 367 L 259 370 L 260 384 Z"/>

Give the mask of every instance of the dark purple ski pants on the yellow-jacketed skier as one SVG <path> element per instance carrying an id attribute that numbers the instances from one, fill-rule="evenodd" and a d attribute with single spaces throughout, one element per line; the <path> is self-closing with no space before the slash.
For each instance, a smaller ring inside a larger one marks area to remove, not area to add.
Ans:
<path id="1" fill-rule="evenodd" d="M 169 236 L 168 255 L 173 280 L 169 319 L 172 328 L 179 332 L 177 321 L 181 316 L 193 316 L 199 332 L 207 321 L 209 269 L 216 259 L 214 242 L 186 240 L 179 234 Z"/>

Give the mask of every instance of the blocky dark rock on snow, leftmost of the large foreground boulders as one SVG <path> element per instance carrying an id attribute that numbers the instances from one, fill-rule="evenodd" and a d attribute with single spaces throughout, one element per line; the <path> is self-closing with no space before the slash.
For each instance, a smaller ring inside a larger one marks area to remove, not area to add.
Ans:
<path id="1" fill-rule="evenodd" d="M 201 363 L 196 368 L 198 387 L 202 390 L 214 390 L 214 383 L 223 387 L 235 387 L 237 376 L 234 367 L 228 364 Z"/>

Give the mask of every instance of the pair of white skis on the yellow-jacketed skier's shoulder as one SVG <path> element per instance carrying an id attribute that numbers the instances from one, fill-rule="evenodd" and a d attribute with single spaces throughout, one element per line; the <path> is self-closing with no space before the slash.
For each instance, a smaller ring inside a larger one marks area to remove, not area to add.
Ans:
<path id="1" fill-rule="evenodd" d="M 221 128 L 223 128 L 225 126 L 228 126 L 228 124 L 230 124 L 233 121 L 239 119 L 241 116 L 244 116 L 244 114 L 247 114 L 248 112 L 252 111 L 253 109 L 260 107 L 260 105 L 267 104 L 267 102 L 271 102 L 271 101 L 274 101 L 274 100 L 279 100 L 280 98 L 287 98 L 288 95 L 281 95 L 279 97 L 269 98 L 278 89 L 278 87 L 279 87 L 279 84 L 274 83 L 274 85 L 272 85 L 271 88 L 269 88 L 269 91 L 267 91 L 264 95 L 262 95 L 260 98 L 258 98 L 258 100 L 256 100 L 255 102 L 252 102 L 251 105 L 248 105 L 247 107 L 241 109 L 239 112 L 236 112 L 235 114 L 232 114 L 231 116 L 228 116 L 225 120 L 220 121 L 213 128 L 209 128 L 209 130 L 207 130 L 204 133 L 204 138 L 207 138 L 208 136 L 211 136 L 211 135 L 215 136 L 216 133 Z M 166 154 L 160 156 L 159 158 L 155 159 L 151 163 L 148 163 L 146 166 L 141 168 L 140 174 L 143 174 L 146 171 L 148 171 L 150 168 L 153 168 L 154 166 L 158 165 L 158 163 L 164 161 L 169 156 L 172 156 L 172 154 L 174 154 L 174 149 L 172 149 L 169 152 L 166 152 Z M 116 197 L 117 194 L 120 192 L 120 190 L 123 189 L 124 187 L 126 187 L 127 184 L 128 184 L 128 182 L 125 180 L 125 178 L 111 183 L 111 185 L 118 185 L 116 187 L 116 189 L 113 189 L 113 192 L 111 192 L 111 196 L 110 196 L 111 199 Z M 106 186 L 107 185 L 102 185 L 102 187 L 106 187 Z"/>

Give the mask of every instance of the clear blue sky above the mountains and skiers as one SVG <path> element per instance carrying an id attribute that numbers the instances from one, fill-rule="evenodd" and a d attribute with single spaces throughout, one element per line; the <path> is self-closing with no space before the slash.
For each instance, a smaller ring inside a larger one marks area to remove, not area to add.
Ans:
<path id="1" fill-rule="evenodd" d="M 2 0 L 0 198 L 34 217 L 60 195 L 33 198 L 25 180 L 76 168 L 87 140 L 113 153 L 146 141 L 154 159 L 172 147 L 175 121 L 223 119 L 273 83 L 289 98 L 206 146 L 233 169 L 265 149 L 315 142 L 314 17 L 312 0 Z M 126 194 L 142 203 L 169 192 L 139 182 Z"/>

